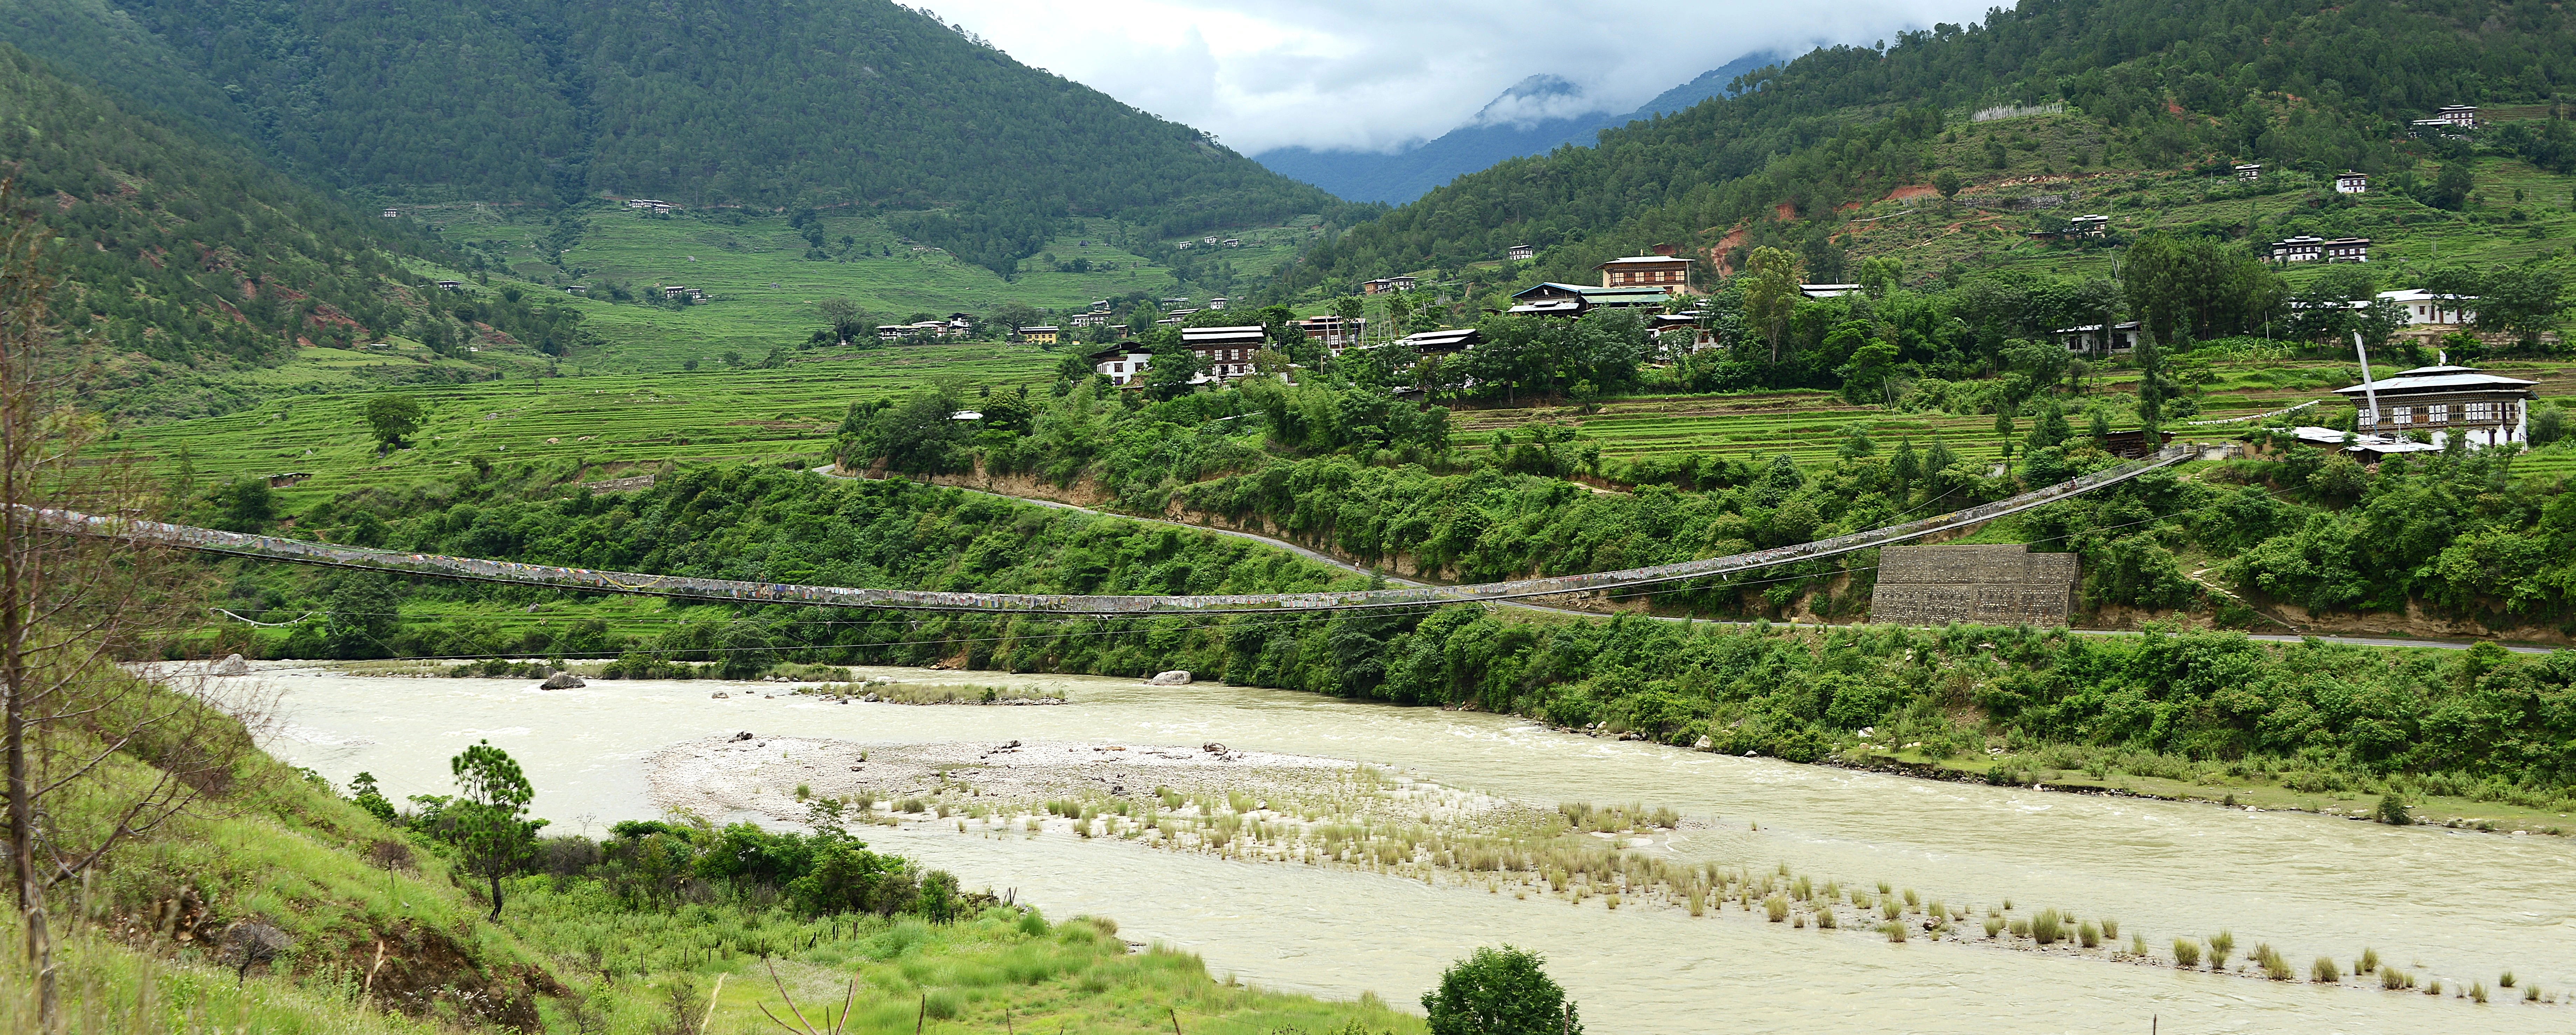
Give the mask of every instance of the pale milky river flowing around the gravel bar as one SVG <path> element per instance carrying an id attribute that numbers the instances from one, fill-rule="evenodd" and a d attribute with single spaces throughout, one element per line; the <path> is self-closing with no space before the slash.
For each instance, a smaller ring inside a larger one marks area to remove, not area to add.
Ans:
<path id="1" fill-rule="evenodd" d="M 2496 989 L 2576 991 L 2571 860 L 2561 837 L 2380 826 L 2141 798 L 1929 783 L 1556 734 L 1484 713 L 1345 703 L 1288 690 L 1144 687 L 1097 677 L 858 669 L 907 682 L 1064 687 L 1041 708 L 829 705 L 762 698 L 775 685 L 350 677 L 260 667 L 281 693 L 270 752 L 345 785 L 368 770 L 392 798 L 451 793 L 448 757 L 489 739 L 520 760 L 551 832 L 652 816 L 644 757 L 724 731 L 933 741 L 1224 741 L 1399 767 L 1528 801 L 1643 801 L 1685 826 L 1669 852 L 1749 868 L 1888 881 L 1927 899 L 2117 917 L 2159 953 L 2177 937 L 2272 942 L 2308 973 L 2360 950 L 2445 984 L 2486 981 L 2488 1007 L 2452 996 L 2272 984 L 1989 945 L 1904 942 L 1759 924 L 1739 911 L 1602 909 L 1600 899 L 1512 899 L 1481 888 L 1298 865 L 1226 862 L 1118 839 L 961 837 L 866 829 L 881 847 L 969 886 L 1018 888 L 1048 917 L 1115 917 L 1123 937 L 1195 950 L 1249 984 L 1412 1002 L 1476 945 L 1548 955 L 1600 1032 L 2566 1032 L 2576 1004 Z M 714 690 L 732 698 L 716 700 Z"/>

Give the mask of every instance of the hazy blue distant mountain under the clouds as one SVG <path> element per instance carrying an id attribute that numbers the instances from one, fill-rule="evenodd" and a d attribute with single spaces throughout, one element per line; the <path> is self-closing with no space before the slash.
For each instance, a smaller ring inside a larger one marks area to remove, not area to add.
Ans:
<path id="1" fill-rule="evenodd" d="M 1252 160 L 1270 170 L 1314 183 L 1347 201 L 1406 203 L 1432 188 L 1484 170 L 1494 162 L 1546 154 L 1558 147 L 1592 147 L 1595 136 L 1610 126 L 1646 121 L 1690 108 L 1708 98 L 1726 95 L 1726 85 L 1739 75 L 1777 62 L 1777 54 L 1744 54 L 1700 77 L 1664 90 L 1625 116 L 1605 111 L 1564 113 L 1582 103 L 1574 82 L 1556 75 L 1533 75 L 1497 95 L 1466 126 L 1450 129 L 1432 142 L 1414 144 L 1394 154 L 1376 152 L 1316 152 L 1306 147 L 1280 147 Z"/>

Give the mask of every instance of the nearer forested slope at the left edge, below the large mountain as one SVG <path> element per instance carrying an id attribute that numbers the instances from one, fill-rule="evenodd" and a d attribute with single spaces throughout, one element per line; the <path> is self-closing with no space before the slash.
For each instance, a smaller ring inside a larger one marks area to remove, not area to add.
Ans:
<path id="1" fill-rule="evenodd" d="M 381 335 L 448 327 L 448 312 L 428 312 L 430 278 L 407 270 L 440 260 L 435 242 L 363 219 L 240 144 L 70 82 L 5 44 L 0 157 L 15 165 L 18 201 L 62 242 L 57 312 L 98 348 L 80 396 L 111 417 L 224 412 L 263 391 L 240 371 L 314 345 L 337 345 L 358 363 L 358 345 Z M 489 299 L 471 319 L 531 348 L 551 340 L 562 350 L 577 335 L 518 299 Z M 404 366 L 417 371 L 384 378 L 484 376 Z"/>

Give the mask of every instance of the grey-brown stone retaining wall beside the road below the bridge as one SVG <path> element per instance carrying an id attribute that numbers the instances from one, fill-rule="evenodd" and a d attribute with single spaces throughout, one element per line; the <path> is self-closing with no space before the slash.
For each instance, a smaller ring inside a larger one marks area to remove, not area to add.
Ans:
<path id="1" fill-rule="evenodd" d="M 1893 626 L 2063 626 L 2076 597 L 2074 554 L 2002 546 L 1880 546 L 1870 620 Z"/>

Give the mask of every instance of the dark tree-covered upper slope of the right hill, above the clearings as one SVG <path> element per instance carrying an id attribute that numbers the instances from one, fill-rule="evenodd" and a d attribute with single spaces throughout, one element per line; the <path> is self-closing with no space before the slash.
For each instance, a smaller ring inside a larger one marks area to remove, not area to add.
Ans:
<path id="1" fill-rule="evenodd" d="M 1535 242 L 1582 281 L 1649 242 L 1713 245 L 1747 221 L 1832 227 L 1839 206 L 1927 183 L 1932 144 L 1984 106 L 2066 103 L 2094 165 L 2249 160 L 2411 172 L 2391 142 L 2450 103 L 2548 103 L 2576 75 L 2550 5 L 2025 0 L 1986 23 L 1816 49 L 1741 95 L 1466 175 L 1285 270 L 1283 294 L 1455 268 Z M 1976 175 L 1978 167 L 1958 172 Z M 1571 245 L 1571 247 L 1561 247 Z"/>

